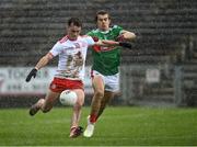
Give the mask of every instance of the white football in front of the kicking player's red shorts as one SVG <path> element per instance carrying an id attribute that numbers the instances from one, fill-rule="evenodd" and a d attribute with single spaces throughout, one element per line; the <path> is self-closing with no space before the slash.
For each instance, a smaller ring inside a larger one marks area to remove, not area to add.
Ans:
<path id="1" fill-rule="evenodd" d="M 65 90 L 59 97 L 59 101 L 62 105 L 74 105 L 77 102 L 78 95 L 74 91 Z"/>

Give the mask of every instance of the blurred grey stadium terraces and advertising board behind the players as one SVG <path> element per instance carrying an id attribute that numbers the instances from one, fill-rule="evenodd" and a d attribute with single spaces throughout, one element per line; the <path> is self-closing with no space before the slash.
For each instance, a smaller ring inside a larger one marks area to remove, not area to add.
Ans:
<path id="1" fill-rule="evenodd" d="M 44 97 L 57 59 L 30 83 L 27 74 L 65 35 L 70 16 L 82 20 L 85 34 L 99 10 L 137 35 L 134 48 L 121 50 L 121 92 L 111 104 L 197 105 L 196 0 L 1 0 L 0 10 L 0 108 L 30 106 Z M 89 52 L 86 105 L 91 60 Z"/>

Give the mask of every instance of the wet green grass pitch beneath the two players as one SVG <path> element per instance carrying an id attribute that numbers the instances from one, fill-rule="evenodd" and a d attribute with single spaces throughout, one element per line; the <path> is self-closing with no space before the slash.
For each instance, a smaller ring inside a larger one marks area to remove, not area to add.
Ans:
<path id="1" fill-rule="evenodd" d="M 86 125 L 90 108 L 83 108 Z M 193 146 L 197 110 L 184 108 L 107 108 L 92 138 L 69 138 L 71 108 L 28 115 L 28 109 L 0 110 L 1 146 Z"/>

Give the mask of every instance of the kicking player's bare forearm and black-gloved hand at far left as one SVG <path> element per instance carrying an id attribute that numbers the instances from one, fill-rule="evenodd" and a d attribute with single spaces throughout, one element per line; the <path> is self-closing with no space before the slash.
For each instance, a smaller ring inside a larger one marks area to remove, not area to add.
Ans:
<path id="1" fill-rule="evenodd" d="M 47 55 L 45 55 L 44 57 L 42 57 L 42 58 L 39 59 L 39 61 L 37 63 L 37 65 L 36 65 L 36 66 L 30 71 L 30 74 L 27 75 L 27 77 L 26 77 L 26 82 L 31 81 L 32 77 L 35 78 L 37 71 L 38 71 L 42 67 L 46 66 L 51 58 L 53 58 L 53 56 L 51 56 L 50 54 L 47 54 Z"/>

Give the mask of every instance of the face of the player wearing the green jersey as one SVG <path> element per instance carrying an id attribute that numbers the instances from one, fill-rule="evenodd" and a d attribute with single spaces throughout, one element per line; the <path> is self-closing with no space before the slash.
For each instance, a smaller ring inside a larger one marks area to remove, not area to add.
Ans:
<path id="1" fill-rule="evenodd" d="M 108 14 L 97 15 L 97 27 L 102 31 L 107 31 L 109 29 L 111 20 L 108 19 Z"/>

